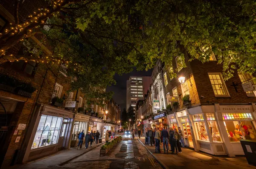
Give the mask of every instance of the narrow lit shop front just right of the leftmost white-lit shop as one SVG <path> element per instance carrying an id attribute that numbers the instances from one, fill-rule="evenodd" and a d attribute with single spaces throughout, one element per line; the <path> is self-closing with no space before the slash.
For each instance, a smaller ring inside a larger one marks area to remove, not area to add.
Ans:
<path id="1" fill-rule="evenodd" d="M 79 133 L 82 132 L 82 130 L 84 130 L 85 134 L 87 133 L 89 120 L 90 120 L 90 116 L 82 115 L 82 114 L 75 115 L 73 129 L 72 129 L 71 143 L 70 143 L 71 147 L 74 147 L 78 144 L 78 141 L 79 141 L 78 136 L 79 136 Z M 83 143 L 85 143 L 85 140 Z"/>

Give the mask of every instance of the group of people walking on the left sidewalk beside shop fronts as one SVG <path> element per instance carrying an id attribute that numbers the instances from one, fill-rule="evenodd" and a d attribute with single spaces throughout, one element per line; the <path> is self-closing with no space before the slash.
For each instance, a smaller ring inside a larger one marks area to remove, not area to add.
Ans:
<path id="1" fill-rule="evenodd" d="M 80 132 L 78 134 L 78 145 L 77 145 L 77 148 L 79 148 L 80 146 L 80 149 L 82 148 L 82 144 L 83 144 L 83 141 L 84 141 L 84 137 L 85 137 L 85 148 L 88 149 L 88 146 L 89 146 L 89 143 L 90 143 L 90 146 L 92 146 L 92 144 L 95 142 L 96 144 L 99 143 L 99 137 L 100 137 L 100 133 L 99 133 L 99 130 L 96 131 L 92 131 L 91 132 L 87 132 L 86 135 L 84 135 L 84 130 L 82 130 L 82 132 Z"/>

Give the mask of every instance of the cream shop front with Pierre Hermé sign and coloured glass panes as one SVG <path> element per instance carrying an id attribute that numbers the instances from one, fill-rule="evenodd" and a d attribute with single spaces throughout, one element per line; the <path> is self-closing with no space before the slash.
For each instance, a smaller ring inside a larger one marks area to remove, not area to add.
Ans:
<path id="1" fill-rule="evenodd" d="M 228 154 L 244 155 L 240 140 L 256 140 L 255 109 L 253 105 L 219 105 L 215 104 L 215 114 Z"/>

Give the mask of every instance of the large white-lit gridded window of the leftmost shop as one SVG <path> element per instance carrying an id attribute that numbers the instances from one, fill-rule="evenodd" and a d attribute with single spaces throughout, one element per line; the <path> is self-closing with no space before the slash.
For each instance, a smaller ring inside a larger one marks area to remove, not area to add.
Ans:
<path id="1" fill-rule="evenodd" d="M 58 143 L 63 118 L 42 115 L 31 149 Z"/>

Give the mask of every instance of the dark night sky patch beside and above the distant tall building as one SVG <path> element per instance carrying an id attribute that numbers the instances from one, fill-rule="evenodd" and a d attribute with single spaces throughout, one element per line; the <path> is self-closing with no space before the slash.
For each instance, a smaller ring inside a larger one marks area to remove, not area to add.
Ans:
<path id="1" fill-rule="evenodd" d="M 132 72 L 128 74 L 122 74 L 122 76 L 116 74 L 114 76 L 114 79 L 116 80 L 116 85 L 108 86 L 107 91 L 114 92 L 113 99 L 117 104 L 121 106 L 121 112 L 126 105 L 126 80 L 129 80 L 130 76 L 151 76 L 152 71 L 153 69 L 138 72 L 136 71 L 136 69 L 134 69 Z"/>

